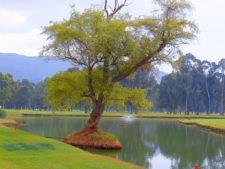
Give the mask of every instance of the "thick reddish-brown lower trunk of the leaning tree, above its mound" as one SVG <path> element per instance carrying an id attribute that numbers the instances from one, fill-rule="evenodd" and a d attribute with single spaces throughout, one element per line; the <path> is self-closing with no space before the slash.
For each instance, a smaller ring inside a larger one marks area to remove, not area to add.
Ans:
<path id="1" fill-rule="evenodd" d="M 90 114 L 87 125 L 84 129 L 84 131 L 87 132 L 87 134 L 98 131 L 98 124 L 104 109 L 105 109 L 104 97 L 100 96 L 100 98 L 98 99 L 96 105 L 94 106 Z"/>

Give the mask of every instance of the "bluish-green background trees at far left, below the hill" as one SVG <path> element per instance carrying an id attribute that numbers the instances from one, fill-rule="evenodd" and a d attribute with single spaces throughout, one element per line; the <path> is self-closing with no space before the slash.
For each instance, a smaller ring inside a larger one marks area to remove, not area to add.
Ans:
<path id="1" fill-rule="evenodd" d="M 0 73 L 0 105 L 12 109 L 46 109 L 44 83 L 14 81 L 12 75 Z"/>

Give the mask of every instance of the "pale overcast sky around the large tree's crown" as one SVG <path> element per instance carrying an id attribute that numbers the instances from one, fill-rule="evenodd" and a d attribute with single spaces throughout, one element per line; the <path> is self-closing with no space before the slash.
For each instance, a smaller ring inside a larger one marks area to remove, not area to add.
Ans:
<path id="1" fill-rule="evenodd" d="M 152 0 L 128 0 L 126 11 L 132 15 L 148 15 Z M 225 0 L 190 0 L 192 18 L 199 27 L 198 39 L 182 47 L 184 53 L 218 62 L 225 58 Z M 0 0 L 0 52 L 36 56 L 45 38 L 41 27 L 49 21 L 68 18 L 70 5 L 82 11 L 104 0 Z"/>

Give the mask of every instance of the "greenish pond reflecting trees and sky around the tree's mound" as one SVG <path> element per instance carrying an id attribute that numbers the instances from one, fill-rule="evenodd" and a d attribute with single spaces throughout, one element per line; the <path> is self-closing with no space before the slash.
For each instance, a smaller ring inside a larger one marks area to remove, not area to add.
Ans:
<path id="1" fill-rule="evenodd" d="M 24 117 L 22 130 L 61 140 L 84 127 L 86 118 Z M 225 136 L 185 126 L 175 121 L 103 118 L 104 131 L 114 133 L 121 151 L 92 151 L 113 156 L 147 169 L 225 168 Z"/>

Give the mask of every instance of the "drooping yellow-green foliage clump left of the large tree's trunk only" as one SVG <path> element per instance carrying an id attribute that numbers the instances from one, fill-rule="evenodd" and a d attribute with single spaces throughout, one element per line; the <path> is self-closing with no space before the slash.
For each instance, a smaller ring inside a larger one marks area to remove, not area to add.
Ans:
<path id="1" fill-rule="evenodd" d="M 63 72 L 46 80 L 47 98 L 56 109 L 66 109 L 86 101 L 82 98 L 87 90 L 84 72 Z"/>

